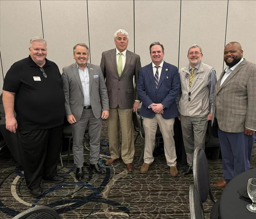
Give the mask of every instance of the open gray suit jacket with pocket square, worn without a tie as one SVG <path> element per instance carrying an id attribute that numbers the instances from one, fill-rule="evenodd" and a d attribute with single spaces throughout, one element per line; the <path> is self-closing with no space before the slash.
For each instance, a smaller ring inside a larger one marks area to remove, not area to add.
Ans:
<path id="1" fill-rule="evenodd" d="M 103 110 L 109 110 L 109 99 L 105 80 L 98 65 L 88 63 L 91 108 L 95 118 L 100 118 Z M 66 115 L 73 114 L 76 120 L 83 112 L 83 88 L 76 63 L 63 68 L 63 90 Z"/>

